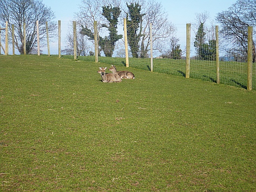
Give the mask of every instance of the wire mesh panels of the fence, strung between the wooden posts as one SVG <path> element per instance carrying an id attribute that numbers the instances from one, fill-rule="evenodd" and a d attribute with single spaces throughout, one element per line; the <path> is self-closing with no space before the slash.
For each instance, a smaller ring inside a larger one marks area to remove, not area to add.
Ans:
<path id="1" fill-rule="evenodd" d="M 128 22 L 126 25 L 128 50 L 125 50 L 123 21 L 116 26 L 97 26 L 98 62 L 105 63 L 107 67 L 110 65 L 125 66 L 127 64 L 125 57 L 128 56 L 129 67 L 151 70 L 153 66 L 155 72 L 186 77 L 187 27 L 180 24 L 175 26 L 177 26 L 176 34 L 173 33 L 173 36 L 160 36 L 157 33 L 158 29 L 153 27 L 151 38 L 149 25 L 141 28 Z M 247 44 L 247 39 L 246 42 L 240 42 L 240 47 L 236 46 L 234 49 L 232 45 L 227 44 L 224 38 L 220 37 L 218 39 L 219 57 L 216 57 L 215 29 L 215 26 L 208 26 L 205 33 L 199 34 L 198 31 L 191 33 L 189 77 L 217 82 L 216 61 L 218 61 L 220 83 L 247 89 L 248 55 L 247 50 L 242 46 Z M 5 29 L 0 32 L 2 39 L 0 54 L 5 54 Z M 47 54 L 49 48 L 51 56 L 74 59 L 74 32 L 76 33 L 77 59 L 94 62 L 96 58 L 94 31 L 83 26 L 83 23 L 79 21 L 76 22 L 76 31 L 74 31 L 72 22 L 61 21 L 59 30 L 56 30 L 55 36 L 49 39 L 49 46 L 40 47 L 40 54 Z M 255 39 L 255 36 L 253 38 Z M 40 44 L 46 45 L 46 39 Z M 12 36 L 9 35 L 8 54 L 19 54 L 12 47 Z M 36 54 L 36 50 L 31 53 Z M 252 89 L 256 90 L 255 58 L 252 64 Z"/>

